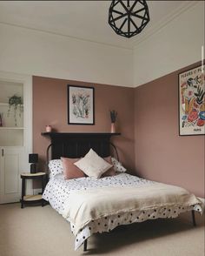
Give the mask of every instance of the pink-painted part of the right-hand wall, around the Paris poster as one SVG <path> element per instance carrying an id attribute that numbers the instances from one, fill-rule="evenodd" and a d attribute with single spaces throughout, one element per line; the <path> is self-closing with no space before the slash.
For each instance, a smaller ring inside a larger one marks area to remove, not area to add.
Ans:
<path id="1" fill-rule="evenodd" d="M 195 65 L 135 89 L 136 172 L 204 198 L 204 136 L 178 131 L 178 73 Z"/>

